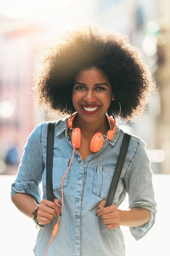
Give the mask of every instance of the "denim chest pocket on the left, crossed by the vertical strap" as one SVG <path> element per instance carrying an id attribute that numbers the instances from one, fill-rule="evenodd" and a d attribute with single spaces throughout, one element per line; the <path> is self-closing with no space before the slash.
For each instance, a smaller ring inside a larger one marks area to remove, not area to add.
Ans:
<path id="1" fill-rule="evenodd" d="M 69 159 L 69 158 L 63 158 L 63 157 L 54 157 L 53 158 L 53 168 L 52 168 L 53 191 L 55 191 L 57 189 L 61 189 L 62 178 L 68 169 L 70 161 L 71 161 L 71 159 Z M 70 176 L 70 169 L 69 169 L 68 173 L 65 175 L 64 182 L 63 182 L 63 188 L 68 186 L 69 176 Z M 44 168 L 42 180 L 43 180 L 42 181 L 43 186 L 46 187 L 46 166 Z"/>

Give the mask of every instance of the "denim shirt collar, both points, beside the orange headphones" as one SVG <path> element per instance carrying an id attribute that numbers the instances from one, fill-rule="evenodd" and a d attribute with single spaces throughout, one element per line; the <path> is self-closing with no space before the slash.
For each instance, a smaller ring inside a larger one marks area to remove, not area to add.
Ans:
<path id="1" fill-rule="evenodd" d="M 68 126 L 67 126 L 68 117 L 70 117 L 70 116 L 61 118 L 61 119 L 59 119 L 59 121 L 57 122 L 57 123 L 59 123 L 59 126 L 58 126 L 58 128 L 57 128 L 56 136 L 60 135 L 64 130 L 67 130 L 67 129 L 68 129 Z M 108 142 L 109 142 L 112 146 L 114 146 L 116 140 L 118 139 L 119 131 L 120 131 L 120 128 L 119 128 L 119 126 L 116 124 L 116 132 L 115 132 L 115 134 L 114 134 L 114 137 L 113 137 L 113 139 L 108 140 Z"/>

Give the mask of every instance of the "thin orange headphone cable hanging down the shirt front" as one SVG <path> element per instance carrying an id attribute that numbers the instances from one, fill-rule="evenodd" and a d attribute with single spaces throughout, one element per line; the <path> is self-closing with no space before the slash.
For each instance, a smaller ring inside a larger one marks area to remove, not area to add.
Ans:
<path id="1" fill-rule="evenodd" d="M 65 172 L 64 176 L 63 176 L 63 179 L 62 179 L 62 182 L 61 182 L 61 200 L 62 200 L 62 207 L 61 207 L 61 213 L 63 211 L 63 206 L 64 206 L 64 200 L 63 200 L 63 181 L 64 181 L 64 178 L 65 178 L 65 175 L 68 173 L 69 169 L 70 169 L 70 166 L 72 164 L 72 160 L 73 160 L 73 157 L 74 157 L 74 149 L 75 149 L 75 146 L 73 144 L 73 153 L 72 153 L 72 158 L 71 158 L 71 161 L 70 161 L 70 164 L 68 166 L 68 169 L 67 171 Z M 45 253 L 45 256 L 47 255 L 47 252 L 48 252 L 48 248 L 50 246 L 50 244 L 52 243 L 52 240 L 54 239 L 54 237 L 56 236 L 57 232 L 58 232 L 58 229 L 59 229 L 59 220 L 60 220 L 60 217 L 58 218 L 57 220 L 57 223 L 55 224 L 55 226 L 53 227 L 52 229 L 52 238 L 47 246 L 47 249 L 46 249 L 46 253 Z"/>

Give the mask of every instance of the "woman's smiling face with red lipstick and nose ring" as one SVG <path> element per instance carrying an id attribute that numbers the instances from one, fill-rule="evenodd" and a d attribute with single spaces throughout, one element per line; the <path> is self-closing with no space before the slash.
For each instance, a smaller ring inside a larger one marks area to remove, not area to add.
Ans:
<path id="1" fill-rule="evenodd" d="M 111 100 L 114 94 L 102 70 L 92 67 L 78 73 L 72 90 L 72 103 L 78 117 L 86 122 L 105 120 Z"/>

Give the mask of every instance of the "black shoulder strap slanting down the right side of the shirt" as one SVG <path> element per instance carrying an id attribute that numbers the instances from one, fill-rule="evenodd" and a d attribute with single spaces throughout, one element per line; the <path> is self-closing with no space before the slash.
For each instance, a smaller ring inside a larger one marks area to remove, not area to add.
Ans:
<path id="1" fill-rule="evenodd" d="M 122 172 L 122 168 L 124 165 L 124 160 L 126 157 L 126 153 L 129 147 L 129 141 L 131 139 L 131 135 L 124 133 L 124 137 L 123 137 L 123 141 L 122 141 L 122 146 L 120 148 L 120 153 L 118 156 L 118 162 L 116 164 L 116 168 L 115 168 L 115 172 L 111 181 L 111 185 L 110 185 L 110 189 L 109 189 L 109 193 L 107 195 L 107 200 L 106 200 L 106 204 L 105 207 L 110 206 L 113 203 L 113 199 L 115 197 L 115 193 L 116 193 L 116 189 L 118 187 L 118 182 L 120 179 L 120 175 Z"/>

